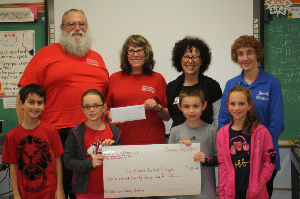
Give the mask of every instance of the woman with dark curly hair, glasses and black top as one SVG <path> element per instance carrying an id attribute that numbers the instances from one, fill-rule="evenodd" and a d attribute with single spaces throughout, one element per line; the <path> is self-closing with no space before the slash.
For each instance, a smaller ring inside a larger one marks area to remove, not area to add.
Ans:
<path id="1" fill-rule="evenodd" d="M 183 72 L 167 85 L 168 110 L 173 119 L 172 127 L 186 120 L 177 107 L 179 92 L 186 86 L 196 86 L 203 91 L 207 107 L 202 112 L 201 119 L 217 126 L 222 90 L 217 81 L 203 75 L 211 63 L 211 51 L 208 45 L 198 37 L 185 37 L 175 44 L 172 52 L 172 66 L 178 72 Z"/>

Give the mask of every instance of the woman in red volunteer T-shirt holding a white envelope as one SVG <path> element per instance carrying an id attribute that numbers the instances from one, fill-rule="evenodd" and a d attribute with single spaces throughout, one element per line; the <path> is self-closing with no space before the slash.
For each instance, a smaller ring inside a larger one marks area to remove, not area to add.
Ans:
<path id="1" fill-rule="evenodd" d="M 152 71 L 155 61 L 150 43 L 140 35 L 130 35 L 120 51 L 122 71 L 110 76 L 107 92 L 109 108 L 144 104 L 146 119 L 112 121 L 110 110 L 105 117 L 119 124 L 122 145 L 165 144 L 165 125 L 170 120 L 164 77 Z"/>

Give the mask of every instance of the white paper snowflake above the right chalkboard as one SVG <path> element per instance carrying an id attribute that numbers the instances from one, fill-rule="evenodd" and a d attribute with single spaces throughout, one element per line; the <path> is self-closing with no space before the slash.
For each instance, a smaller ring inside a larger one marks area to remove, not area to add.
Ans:
<path id="1" fill-rule="evenodd" d="M 289 0 L 267 0 L 265 1 L 265 4 L 268 5 L 266 8 L 270 10 L 271 14 L 276 13 L 285 15 L 286 10 L 289 10 L 289 6 L 292 5 L 292 2 Z"/>

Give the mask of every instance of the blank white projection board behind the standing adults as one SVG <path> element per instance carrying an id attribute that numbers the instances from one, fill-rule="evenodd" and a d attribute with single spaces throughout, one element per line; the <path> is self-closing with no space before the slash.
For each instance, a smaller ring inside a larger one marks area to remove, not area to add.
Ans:
<path id="1" fill-rule="evenodd" d="M 186 35 L 206 40 L 212 63 L 205 75 L 223 89 L 240 67 L 230 59 L 230 45 L 240 35 L 252 35 L 253 2 L 237 0 L 55 0 L 55 42 L 60 35 L 63 13 L 70 9 L 85 12 L 95 42 L 92 49 L 101 54 L 111 74 L 120 71 L 119 51 L 126 38 L 140 34 L 152 44 L 156 65 L 166 82 L 179 73 L 171 67 L 175 42 Z M 169 133 L 171 121 L 165 123 Z"/>

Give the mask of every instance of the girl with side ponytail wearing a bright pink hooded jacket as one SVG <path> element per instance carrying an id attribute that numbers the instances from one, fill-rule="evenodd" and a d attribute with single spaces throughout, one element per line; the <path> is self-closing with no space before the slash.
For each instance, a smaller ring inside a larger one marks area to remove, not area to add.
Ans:
<path id="1" fill-rule="evenodd" d="M 217 133 L 217 195 L 219 199 L 267 199 L 265 184 L 276 164 L 271 135 L 258 123 L 249 89 L 232 87 L 226 104 L 232 122 Z"/>

